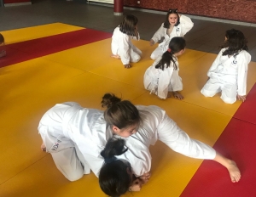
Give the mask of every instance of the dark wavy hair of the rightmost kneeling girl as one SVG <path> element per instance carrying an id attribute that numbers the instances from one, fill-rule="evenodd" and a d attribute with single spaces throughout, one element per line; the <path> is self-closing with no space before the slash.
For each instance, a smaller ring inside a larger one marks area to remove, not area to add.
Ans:
<path id="1" fill-rule="evenodd" d="M 227 40 L 219 48 L 227 48 L 223 55 L 237 55 L 241 50 L 248 51 L 247 39 L 239 30 L 231 29 L 225 33 Z"/>

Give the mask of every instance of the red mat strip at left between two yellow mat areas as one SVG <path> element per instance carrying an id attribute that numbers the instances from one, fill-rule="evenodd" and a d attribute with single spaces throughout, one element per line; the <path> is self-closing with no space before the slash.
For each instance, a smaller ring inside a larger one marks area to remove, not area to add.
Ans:
<path id="1" fill-rule="evenodd" d="M 112 33 L 83 29 L 9 44 L 6 46 L 7 55 L 0 59 L 0 68 L 51 53 L 61 52 L 69 48 L 76 48 L 91 42 L 101 41 L 109 37 L 112 37 Z"/>

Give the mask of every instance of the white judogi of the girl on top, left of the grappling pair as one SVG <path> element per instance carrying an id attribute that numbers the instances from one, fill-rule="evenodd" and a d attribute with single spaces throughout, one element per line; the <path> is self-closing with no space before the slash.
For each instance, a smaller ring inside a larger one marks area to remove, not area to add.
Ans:
<path id="1" fill-rule="evenodd" d="M 74 181 L 90 173 L 90 169 L 98 175 L 104 162 L 100 153 L 113 136 L 106 128 L 101 110 L 68 102 L 48 110 L 39 122 L 38 131 L 55 165 L 67 179 Z"/>

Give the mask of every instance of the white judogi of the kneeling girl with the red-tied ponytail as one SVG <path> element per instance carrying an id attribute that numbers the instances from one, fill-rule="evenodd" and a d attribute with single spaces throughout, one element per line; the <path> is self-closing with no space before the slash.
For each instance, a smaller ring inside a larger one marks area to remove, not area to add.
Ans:
<path id="1" fill-rule="evenodd" d="M 166 99 L 168 92 L 183 90 L 182 78 L 178 76 L 178 62 L 175 59 L 177 70 L 174 70 L 173 63 L 171 61 L 170 66 L 164 70 L 156 69 L 155 65 L 160 62 L 161 57 L 154 61 L 144 74 L 144 87 L 149 90 L 150 93 L 155 93 L 159 98 Z"/>

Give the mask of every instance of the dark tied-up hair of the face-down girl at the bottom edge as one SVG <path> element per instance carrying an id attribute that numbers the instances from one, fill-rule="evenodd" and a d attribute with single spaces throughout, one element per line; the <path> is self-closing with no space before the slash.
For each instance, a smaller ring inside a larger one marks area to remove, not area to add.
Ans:
<path id="1" fill-rule="evenodd" d="M 127 150 L 124 148 L 124 139 L 110 138 L 101 153 L 105 164 L 99 174 L 99 183 L 102 191 L 112 197 L 125 194 L 132 182 L 132 176 L 127 172 L 127 170 L 131 172 L 131 166 L 114 157 L 122 155 Z"/>

